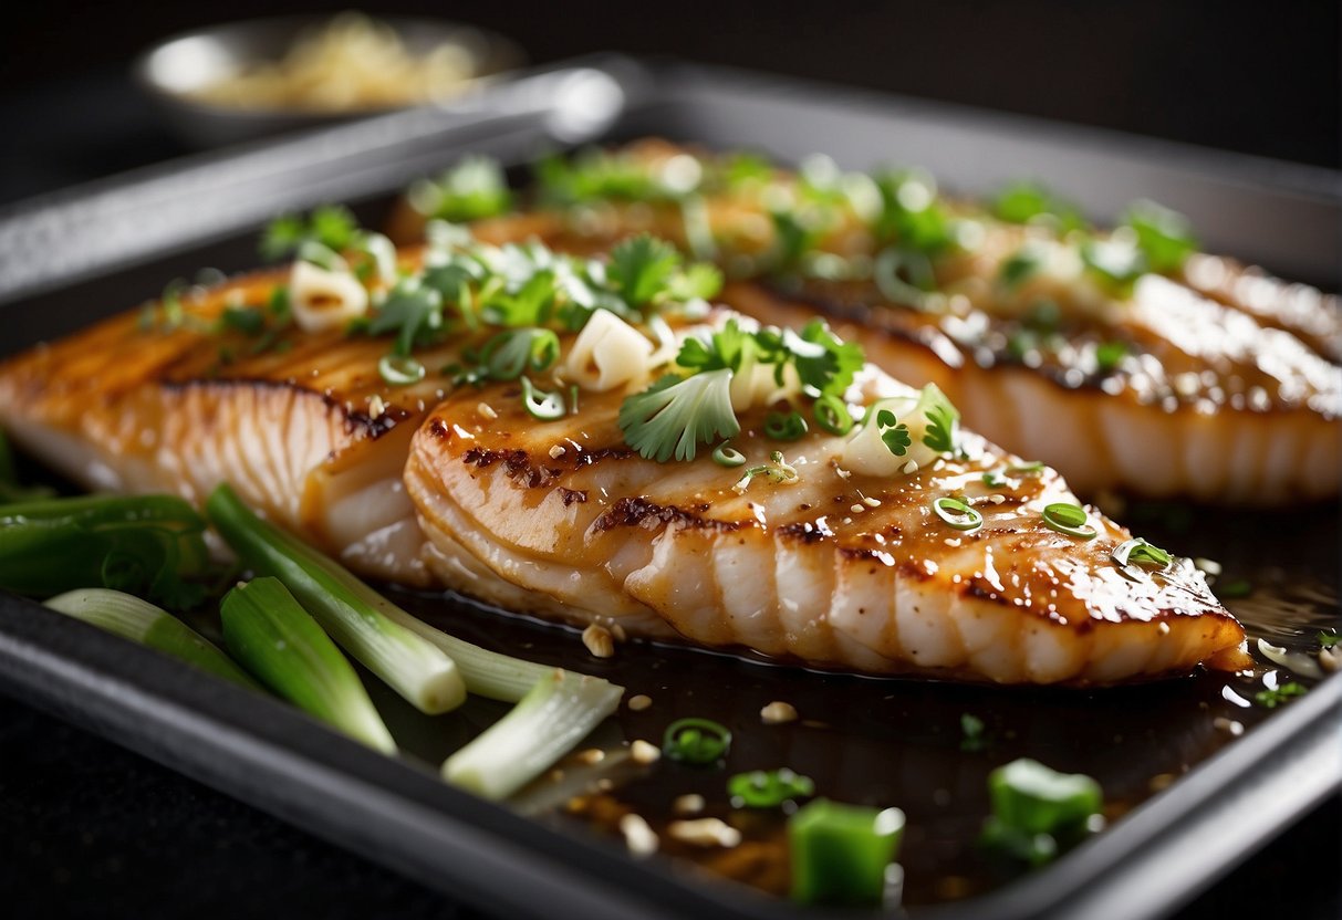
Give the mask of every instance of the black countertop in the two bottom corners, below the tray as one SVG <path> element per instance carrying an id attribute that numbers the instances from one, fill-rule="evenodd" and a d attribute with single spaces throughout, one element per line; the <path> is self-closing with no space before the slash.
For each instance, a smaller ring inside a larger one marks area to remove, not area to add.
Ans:
<path id="1" fill-rule="evenodd" d="M 1339 865 L 1334 798 L 1174 920 L 1335 920 Z M 3 697 L 0 892 L 16 920 L 488 916 Z"/>

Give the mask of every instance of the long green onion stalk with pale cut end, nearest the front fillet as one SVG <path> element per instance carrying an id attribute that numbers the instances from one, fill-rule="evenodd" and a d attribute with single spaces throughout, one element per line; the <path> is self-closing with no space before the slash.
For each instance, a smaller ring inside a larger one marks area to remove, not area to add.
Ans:
<path id="1" fill-rule="evenodd" d="M 227 483 L 211 494 L 205 510 L 248 566 L 279 578 L 341 648 L 411 704 L 437 713 L 466 699 L 452 660 L 388 617 L 382 605 L 391 605 L 338 563 L 258 518 Z"/>

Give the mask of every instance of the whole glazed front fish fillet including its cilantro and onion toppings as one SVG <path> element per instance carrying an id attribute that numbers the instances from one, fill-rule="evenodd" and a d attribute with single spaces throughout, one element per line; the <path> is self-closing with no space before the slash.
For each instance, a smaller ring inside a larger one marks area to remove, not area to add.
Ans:
<path id="1" fill-rule="evenodd" d="M 448 229 L 399 262 L 302 239 L 287 275 L 38 347 L 0 424 L 91 487 L 229 481 L 369 577 L 616 636 L 1002 684 L 1244 665 L 1192 563 L 823 323 L 710 307 L 652 237 Z"/>

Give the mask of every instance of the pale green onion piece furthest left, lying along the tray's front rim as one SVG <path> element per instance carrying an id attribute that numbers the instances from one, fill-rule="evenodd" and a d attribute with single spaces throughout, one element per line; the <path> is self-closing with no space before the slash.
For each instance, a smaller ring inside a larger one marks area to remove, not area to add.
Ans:
<path id="1" fill-rule="evenodd" d="M 213 642 L 149 601 L 106 587 L 78 587 L 48 599 L 46 606 L 156 652 L 170 654 L 216 677 L 231 680 L 248 689 L 260 689 L 260 685 Z"/>

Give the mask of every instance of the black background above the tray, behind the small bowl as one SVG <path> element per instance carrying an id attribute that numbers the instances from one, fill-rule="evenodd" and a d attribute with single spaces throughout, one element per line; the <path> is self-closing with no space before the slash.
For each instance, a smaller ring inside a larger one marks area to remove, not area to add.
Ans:
<path id="1" fill-rule="evenodd" d="M 180 153 L 134 94 L 144 47 L 272 3 L 9 4 L 0 201 Z M 365 9 L 471 21 L 533 60 L 668 54 L 1335 166 L 1339 4 L 1169 0 L 454 0 Z"/>

